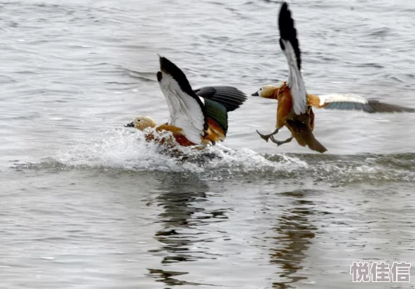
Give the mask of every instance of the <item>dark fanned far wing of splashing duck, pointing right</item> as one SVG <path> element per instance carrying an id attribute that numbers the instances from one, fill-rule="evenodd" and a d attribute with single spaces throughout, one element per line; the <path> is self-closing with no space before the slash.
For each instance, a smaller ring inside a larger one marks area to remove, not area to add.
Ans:
<path id="1" fill-rule="evenodd" d="M 235 87 L 201 87 L 194 92 L 198 96 L 224 105 L 227 112 L 236 110 L 247 100 L 247 95 Z"/>

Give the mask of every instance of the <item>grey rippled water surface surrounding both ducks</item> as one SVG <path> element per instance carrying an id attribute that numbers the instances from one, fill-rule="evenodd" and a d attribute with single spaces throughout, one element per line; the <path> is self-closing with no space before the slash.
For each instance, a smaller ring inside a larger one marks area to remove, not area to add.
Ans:
<path id="1" fill-rule="evenodd" d="M 122 126 L 168 118 L 157 53 L 194 88 L 285 80 L 279 5 L 0 3 L 0 288 L 413 286 L 349 268 L 415 260 L 415 114 L 316 111 L 323 155 L 261 140 L 276 103 L 259 98 L 186 158 Z M 310 93 L 415 107 L 415 3 L 291 9 Z"/>

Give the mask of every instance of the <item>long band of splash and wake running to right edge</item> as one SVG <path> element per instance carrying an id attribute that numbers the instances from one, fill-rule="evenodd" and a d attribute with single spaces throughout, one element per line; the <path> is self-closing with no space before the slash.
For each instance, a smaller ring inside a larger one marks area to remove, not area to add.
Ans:
<path id="1" fill-rule="evenodd" d="M 168 134 L 158 135 L 168 138 Z M 415 156 L 330 154 L 259 154 L 217 144 L 203 150 L 147 142 L 143 132 L 117 128 L 99 138 L 80 140 L 40 162 L 13 163 L 17 170 L 113 170 L 118 172 L 168 172 L 199 179 L 233 177 L 273 180 L 324 181 L 333 186 L 367 181 L 414 181 Z"/>

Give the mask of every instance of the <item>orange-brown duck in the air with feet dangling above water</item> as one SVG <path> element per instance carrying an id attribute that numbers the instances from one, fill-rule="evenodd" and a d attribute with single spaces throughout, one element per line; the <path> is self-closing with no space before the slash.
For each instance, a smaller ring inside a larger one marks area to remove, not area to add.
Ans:
<path id="1" fill-rule="evenodd" d="M 313 151 L 327 151 L 312 134 L 314 129 L 314 108 L 326 108 L 337 110 L 363 110 L 364 112 L 415 112 L 414 108 L 405 108 L 400 105 L 381 103 L 376 100 L 365 99 L 354 94 L 329 94 L 316 96 L 307 94 L 303 77 L 301 76 L 300 47 L 297 39 L 297 31 L 294 20 L 286 2 L 282 3 L 279 11 L 279 45 L 284 52 L 289 64 L 289 77 L 279 87 L 265 85 L 260 87 L 252 96 L 272 98 L 278 101 L 276 129 L 270 134 L 259 133 L 263 140 L 270 139 L 278 146 L 291 142 L 296 138 L 298 144 L 307 145 Z M 275 140 L 274 136 L 283 126 L 289 128 L 292 135 L 284 141 Z"/>

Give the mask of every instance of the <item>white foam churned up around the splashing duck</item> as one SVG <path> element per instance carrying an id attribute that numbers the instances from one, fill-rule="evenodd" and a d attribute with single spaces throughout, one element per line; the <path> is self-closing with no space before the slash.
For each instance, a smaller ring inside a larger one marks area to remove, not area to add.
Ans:
<path id="1" fill-rule="evenodd" d="M 166 134 L 161 135 L 166 137 Z M 282 161 L 270 161 L 251 149 L 231 149 L 216 144 L 203 150 L 181 147 L 180 154 L 172 156 L 154 142 L 146 142 L 143 132 L 115 129 L 106 132 L 101 140 L 78 142 L 70 149 L 60 151 L 54 159 L 70 167 L 105 167 L 137 171 L 207 172 L 217 170 L 251 172 L 268 170 L 295 170 L 307 166 L 298 158 L 282 156 Z M 289 164 L 289 165 L 287 165 Z M 213 172 L 216 172 L 213 174 Z M 221 174 L 219 174 L 221 175 Z"/>

